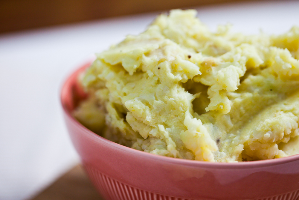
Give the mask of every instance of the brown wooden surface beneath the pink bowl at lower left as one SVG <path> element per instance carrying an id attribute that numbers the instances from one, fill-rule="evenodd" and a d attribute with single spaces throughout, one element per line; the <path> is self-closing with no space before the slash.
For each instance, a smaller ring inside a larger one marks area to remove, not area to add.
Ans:
<path id="1" fill-rule="evenodd" d="M 32 200 L 104 200 L 77 165 Z"/>

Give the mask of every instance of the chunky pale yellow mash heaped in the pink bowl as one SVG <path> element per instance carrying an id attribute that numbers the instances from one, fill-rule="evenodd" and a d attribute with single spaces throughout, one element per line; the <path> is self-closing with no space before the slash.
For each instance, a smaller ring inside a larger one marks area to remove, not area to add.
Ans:
<path id="1" fill-rule="evenodd" d="M 236 162 L 299 153 L 299 27 L 246 36 L 211 32 L 195 10 L 160 15 L 97 55 L 74 116 L 128 147 Z"/>

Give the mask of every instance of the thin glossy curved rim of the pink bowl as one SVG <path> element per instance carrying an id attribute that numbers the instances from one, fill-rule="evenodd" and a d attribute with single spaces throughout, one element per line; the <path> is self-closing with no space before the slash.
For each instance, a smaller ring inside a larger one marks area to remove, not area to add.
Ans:
<path id="1" fill-rule="evenodd" d="M 68 111 L 65 107 L 63 93 L 68 89 L 67 85 L 70 83 L 75 77 L 78 76 L 78 73 L 85 68 L 89 67 L 91 62 L 87 62 L 81 67 L 77 68 L 73 71 L 62 84 L 60 90 L 60 104 L 64 111 L 64 114 L 71 119 L 71 121 L 82 130 L 82 134 L 85 136 L 93 139 L 95 142 L 100 143 L 104 142 L 107 145 L 111 146 L 112 148 L 117 148 L 122 151 L 127 151 L 130 154 L 133 154 L 138 157 L 147 157 L 151 160 L 159 160 L 161 162 L 173 163 L 177 165 L 186 165 L 186 166 L 193 166 L 193 167 L 201 167 L 201 168 L 213 168 L 213 169 L 247 169 L 247 168 L 261 168 L 261 167 L 269 167 L 269 166 L 276 166 L 281 165 L 284 163 L 294 162 L 299 160 L 299 154 L 283 157 L 283 158 L 274 158 L 269 160 L 255 160 L 255 161 L 247 161 L 247 162 L 232 162 L 232 163 L 221 163 L 221 162 L 208 162 L 208 161 L 200 161 L 200 160 L 187 160 L 187 159 L 180 159 L 180 158 L 173 158 L 167 156 L 161 156 L 156 154 L 151 154 L 148 152 L 136 150 L 133 148 L 129 148 L 118 143 L 112 142 L 108 139 L 103 138 L 102 136 L 97 135 L 96 133 L 92 132 L 88 128 L 84 127 L 79 121 L 77 121 L 73 115 Z"/>

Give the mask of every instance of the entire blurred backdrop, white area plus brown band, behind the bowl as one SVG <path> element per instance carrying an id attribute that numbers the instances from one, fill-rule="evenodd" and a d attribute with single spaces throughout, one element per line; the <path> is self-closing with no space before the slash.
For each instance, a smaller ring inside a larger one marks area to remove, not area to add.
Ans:
<path id="1" fill-rule="evenodd" d="M 173 8 L 197 9 L 211 30 L 299 25 L 299 1 L 0 0 L 0 200 L 33 199 L 80 162 L 60 106 L 65 78 Z"/>

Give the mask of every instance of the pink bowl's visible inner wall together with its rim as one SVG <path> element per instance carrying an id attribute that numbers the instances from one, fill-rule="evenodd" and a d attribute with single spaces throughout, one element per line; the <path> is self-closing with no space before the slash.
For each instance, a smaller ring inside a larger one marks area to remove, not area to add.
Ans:
<path id="1" fill-rule="evenodd" d="M 143 151 L 138 151 L 132 148 L 125 147 L 123 145 L 119 145 L 117 143 L 111 142 L 107 139 L 104 139 L 103 137 L 93 133 L 92 131 L 88 130 L 86 127 L 84 127 L 82 124 L 80 124 L 73 116 L 72 111 L 78 106 L 80 101 L 86 99 L 88 95 L 84 91 L 82 85 L 80 85 L 79 76 L 81 73 L 83 73 L 86 68 L 90 66 L 91 62 L 83 65 L 78 70 L 76 70 L 74 73 L 72 73 L 68 79 L 65 81 L 64 85 L 62 86 L 61 90 L 61 103 L 62 108 L 68 117 L 74 121 L 78 126 L 80 126 L 83 129 L 86 129 L 86 132 L 92 135 L 92 137 L 95 137 L 97 139 L 100 139 L 101 141 L 104 140 L 106 143 L 109 143 L 109 145 L 112 145 L 113 147 L 120 148 L 124 151 L 129 151 L 130 153 L 136 154 L 138 156 L 146 156 L 154 160 L 165 160 L 167 162 L 173 162 L 173 163 L 181 163 L 184 165 L 198 165 L 198 166 L 205 166 L 205 167 L 211 167 L 211 168 L 226 168 L 226 169 L 236 169 L 236 168 L 252 168 L 252 167 L 263 167 L 263 166 L 273 166 L 273 165 L 280 165 L 283 163 L 289 163 L 293 162 L 295 160 L 299 160 L 299 154 L 284 157 L 284 158 L 276 158 L 276 159 L 270 159 L 270 160 L 257 160 L 257 161 L 249 161 L 249 162 L 240 162 L 240 163 L 210 163 L 210 162 L 204 162 L 204 161 L 197 161 L 197 160 L 184 160 L 179 158 L 171 158 L 171 157 L 164 157 L 160 155 L 154 155 L 149 154 Z"/>

